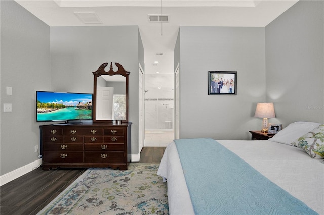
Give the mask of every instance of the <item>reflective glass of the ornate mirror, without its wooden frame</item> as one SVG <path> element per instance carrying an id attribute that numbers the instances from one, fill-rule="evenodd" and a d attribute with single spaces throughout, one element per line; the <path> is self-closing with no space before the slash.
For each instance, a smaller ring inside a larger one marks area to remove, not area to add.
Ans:
<path id="1" fill-rule="evenodd" d="M 126 77 L 101 75 L 96 90 L 96 119 L 126 120 Z"/>

